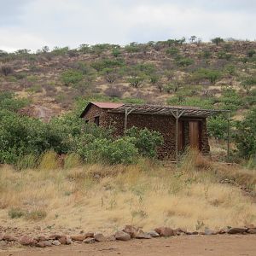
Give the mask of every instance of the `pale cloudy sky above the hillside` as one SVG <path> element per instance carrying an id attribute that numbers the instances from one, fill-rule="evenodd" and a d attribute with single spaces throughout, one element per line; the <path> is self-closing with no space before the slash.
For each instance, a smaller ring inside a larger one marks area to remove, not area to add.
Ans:
<path id="1" fill-rule="evenodd" d="M 256 0 L 0 0 L 0 49 L 256 39 Z"/>

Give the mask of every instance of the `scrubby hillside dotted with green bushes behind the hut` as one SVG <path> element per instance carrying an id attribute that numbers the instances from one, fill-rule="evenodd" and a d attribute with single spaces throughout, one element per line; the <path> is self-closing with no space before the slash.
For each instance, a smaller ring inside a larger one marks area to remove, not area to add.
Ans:
<path id="1" fill-rule="evenodd" d="M 28 97 L 23 112 L 46 120 L 81 98 L 230 108 L 241 119 L 256 104 L 255 50 L 249 41 L 167 40 L 0 51 L 0 90 Z"/>

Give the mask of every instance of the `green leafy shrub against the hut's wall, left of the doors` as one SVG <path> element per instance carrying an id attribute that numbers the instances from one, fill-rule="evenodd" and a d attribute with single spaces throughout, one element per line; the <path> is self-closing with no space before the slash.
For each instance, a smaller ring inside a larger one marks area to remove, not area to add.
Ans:
<path id="1" fill-rule="evenodd" d="M 139 154 L 147 157 L 155 157 L 156 149 L 163 143 L 160 132 L 149 131 L 147 128 L 138 130 L 137 127 L 132 127 L 125 132 L 125 135 L 134 137 Z"/>

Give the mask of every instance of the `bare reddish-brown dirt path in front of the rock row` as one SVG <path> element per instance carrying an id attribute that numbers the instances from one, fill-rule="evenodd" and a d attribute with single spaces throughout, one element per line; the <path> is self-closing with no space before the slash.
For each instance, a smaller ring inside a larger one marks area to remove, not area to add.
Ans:
<path id="1" fill-rule="evenodd" d="M 182 256 L 255 256 L 256 236 L 173 236 L 150 240 L 107 241 L 96 244 L 73 244 L 72 246 L 40 248 L 16 248 L 1 252 L 1 256 L 41 255 L 182 255 Z"/>

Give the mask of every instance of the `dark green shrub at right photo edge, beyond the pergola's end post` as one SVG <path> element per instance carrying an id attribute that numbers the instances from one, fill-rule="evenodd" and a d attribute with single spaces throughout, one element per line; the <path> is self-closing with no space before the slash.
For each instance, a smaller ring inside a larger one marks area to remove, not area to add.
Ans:
<path id="1" fill-rule="evenodd" d="M 256 108 L 254 107 L 243 121 L 236 123 L 236 146 L 241 156 L 256 157 Z"/>

